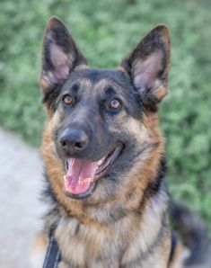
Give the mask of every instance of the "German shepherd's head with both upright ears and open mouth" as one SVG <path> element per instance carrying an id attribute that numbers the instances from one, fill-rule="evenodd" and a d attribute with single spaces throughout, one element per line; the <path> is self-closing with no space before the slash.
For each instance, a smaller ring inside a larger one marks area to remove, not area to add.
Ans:
<path id="1" fill-rule="evenodd" d="M 48 22 L 40 80 L 48 110 L 43 150 L 59 166 L 57 182 L 51 181 L 57 194 L 106 200 L 126 183 L 131 163 L 157 146 L 154 114 L 167 93 L 169 54 L 168 30 L 158 26 L 117 70 L 90 68 L 66 26 L 57 18 Z"/>

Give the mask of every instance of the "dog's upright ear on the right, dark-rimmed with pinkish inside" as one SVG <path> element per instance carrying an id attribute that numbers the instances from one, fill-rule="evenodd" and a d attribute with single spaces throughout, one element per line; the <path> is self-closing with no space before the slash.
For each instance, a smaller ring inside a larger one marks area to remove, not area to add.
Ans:
<path id="1" fill-rule="evenodd" d="M 150 31 L 122 61 L 121 67 L 145 101 L 160 102 L 168 90 L 170 37 L 167 27 L 158 25 Z"/>

